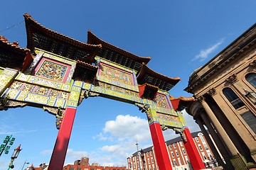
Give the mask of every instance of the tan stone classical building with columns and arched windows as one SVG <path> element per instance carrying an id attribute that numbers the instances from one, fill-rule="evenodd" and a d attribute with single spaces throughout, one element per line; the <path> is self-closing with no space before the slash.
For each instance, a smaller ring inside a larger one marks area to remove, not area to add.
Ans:
<path id="1" fill-rule="evenodd" d="M 256 162 L 256 24 L 191 74 L 185 91 L 196 101 L 186 108 L 200 126 L 213 154 L 209 130 L 225 160 L 247 168 Z"/>

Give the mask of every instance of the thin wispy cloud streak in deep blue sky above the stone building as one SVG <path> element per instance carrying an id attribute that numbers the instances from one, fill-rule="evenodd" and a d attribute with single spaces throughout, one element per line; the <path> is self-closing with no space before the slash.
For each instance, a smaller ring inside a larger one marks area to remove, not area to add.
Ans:
<path id="1" fill-rule="evenodd" d="M 216 50 L 224 42 L 224 40 L 225 40 L 225 38 L 222 38 L 221 40 L 216 42 L 214 45 L 211 45 L 210 47 L 208 47 L 204 50 L 201 50 L 200 53 L 198 55 L 196 55 L 196 57 L 194 57 L 192 61 L 200 60 L 200 62 L 203 62 L 204 60 L 206 60 L 208 58 L 208 55 L 210 55 L 210 53 L 212 53 L 214 50 Z"/>

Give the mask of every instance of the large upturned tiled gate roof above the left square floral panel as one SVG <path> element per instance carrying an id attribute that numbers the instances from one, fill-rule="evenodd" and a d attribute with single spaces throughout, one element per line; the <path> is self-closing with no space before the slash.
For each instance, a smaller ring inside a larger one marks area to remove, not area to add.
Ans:
<path id="1" fill-rule="evenodd" d="M 90 45 L 50 30 L 35 21 L 28 13 L 23 16 L 26 23 L 27 47 L 31 51 L 38 47 L 72 60 L 95 62 L 95 55 L 101 45 Z"/>

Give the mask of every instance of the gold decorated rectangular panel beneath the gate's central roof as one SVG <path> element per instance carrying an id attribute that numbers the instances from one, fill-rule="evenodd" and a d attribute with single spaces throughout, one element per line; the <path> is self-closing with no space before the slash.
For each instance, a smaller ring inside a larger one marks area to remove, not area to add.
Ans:
<path id="1" fill-rule="evenodd" d="M 114 80 L 122 84 L 134 86 L 134 81 L 131 73 L 124 72 L 117 68 L 109 67 L 105 64 L 101 64 L 100 75 L 106 79 Z"/>

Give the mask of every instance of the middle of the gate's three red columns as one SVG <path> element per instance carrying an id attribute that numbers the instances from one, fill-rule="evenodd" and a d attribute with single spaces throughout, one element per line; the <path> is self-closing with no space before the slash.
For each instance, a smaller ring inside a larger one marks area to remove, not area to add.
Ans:
<path id="1" fill-rule="evenodd" d="M 151 123 L 149 125 L 151 137 L 154 145 L 154 152 L 156 154 L 156 161 L 159 166 L 159 170 L 171 170 L 171 162 L 169 154 L 167 152 L 166 143 L 164 141 L 164 135 L 159 123 Z"/>

